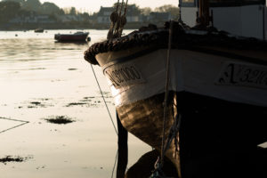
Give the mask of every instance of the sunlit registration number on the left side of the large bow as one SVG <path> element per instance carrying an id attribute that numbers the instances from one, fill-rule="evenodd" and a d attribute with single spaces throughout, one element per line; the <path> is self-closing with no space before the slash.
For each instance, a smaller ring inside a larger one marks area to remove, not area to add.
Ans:
<path id="1" fill-rule="evenodd" d="M 132 63 L 112 65 L 103 72 L 116 88 L 145 82 L 141 72 Z"/>

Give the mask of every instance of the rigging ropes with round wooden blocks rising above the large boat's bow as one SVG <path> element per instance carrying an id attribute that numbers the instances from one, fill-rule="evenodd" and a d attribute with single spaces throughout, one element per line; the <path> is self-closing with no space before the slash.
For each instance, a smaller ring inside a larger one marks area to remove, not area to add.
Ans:
<path id="1" fill-rule="evenodd" d="M 110 14 L 111 24 L 107 36 L 108 40 L 120 37 L 122 35 L 123 28 L 125 27 L 125 24 L 127 22 L 126 12 L 128 0 L 126 0 L 126 3 L 124 2 L 125 0 L 122 0 L 122 3 L 119 3 L 119 1 L 120 0 L 117 0 L 116 11 Z"/>

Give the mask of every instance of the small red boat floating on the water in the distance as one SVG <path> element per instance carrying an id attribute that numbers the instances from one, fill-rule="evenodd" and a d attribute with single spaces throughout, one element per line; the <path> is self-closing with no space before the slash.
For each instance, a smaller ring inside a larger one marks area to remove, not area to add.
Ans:
<path id="1" fill-rule="evenodd" d="M 58 42 L 86 42 L 89 32 L 77 31 L 74 34 L 55 34 L 54 39 Z"/>

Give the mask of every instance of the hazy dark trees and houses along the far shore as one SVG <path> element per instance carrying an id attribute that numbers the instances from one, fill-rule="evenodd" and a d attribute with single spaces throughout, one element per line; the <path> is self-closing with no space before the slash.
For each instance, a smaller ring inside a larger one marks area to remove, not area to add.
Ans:
<path id="1" fill-rule="evenodd" d="M 166 4 L 154 11 L 150 7 L 140 8 L 136 4 L 129 5 L 134 5 L 134 11 L 143 16 L 148 16 L 151 12 L 170 12 L 174 19 L 179 16 L 179 9 L 174 5 Z M 117 4 L 113 6 L 116 7 Z M 97 23 L 98 15 L 99 12 L 93 12 L 93 14 L 79 12 L 75 7 L 63 9 L 49 2 L 42 4 L 39 0 L 0 1 L 0 29 L 36 28 L 42 22 L 36 20 L 36 22 L 25 23 L 25 20 L 21 19 L 37 16 L 45 16 L 49 20 L 49 23 L 42 24 L 46 26 L 44 28 L 92 28 Z M 69 20 L 66 20 L 68 18 Z M 101 26 L 97 27 L 101 28 Z M 106 28 L 106 26 L 102 28 Z"/>

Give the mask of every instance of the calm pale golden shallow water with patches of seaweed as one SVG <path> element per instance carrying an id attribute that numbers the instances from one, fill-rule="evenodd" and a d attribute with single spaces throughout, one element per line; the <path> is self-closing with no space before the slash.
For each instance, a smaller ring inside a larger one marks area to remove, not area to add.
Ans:
<path id="1" fill-rule="evenodd" d="M 53 39 L 56 33 L 75 31 L 0 31 L 0 159 L 26 158 L 0 163 L 1 177 L 111 177 L 117 134 L 83 58 L 90 44 L 105 39 L 107 30 L 86 30 L 92 39 L 88 44 Z M 94 69 L 116 122 L 106 79 L 99 67 Z M 56 125 L 45 120 L 57 116 L 75 122 Z M 128 146 L 128 166 L 151 150 L 133 135 Z"/>

